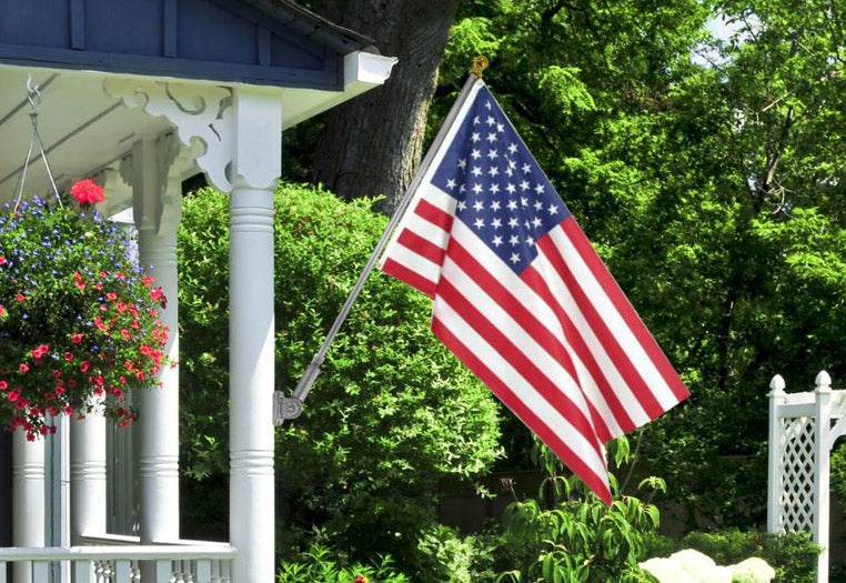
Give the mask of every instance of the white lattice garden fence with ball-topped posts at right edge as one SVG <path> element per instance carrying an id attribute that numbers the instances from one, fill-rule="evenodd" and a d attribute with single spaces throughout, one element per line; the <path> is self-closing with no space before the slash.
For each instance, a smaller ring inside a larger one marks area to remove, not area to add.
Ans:
<path id="1" fill-rule="evenodd" d="M 824 547 L 817 583 L 828 583 L 829 454 L 846 433 L 846 391 L 825 371 L 814 391 L 788 394 L 780 375 L 769 386 L 767 530 L 810 533 Z"/>

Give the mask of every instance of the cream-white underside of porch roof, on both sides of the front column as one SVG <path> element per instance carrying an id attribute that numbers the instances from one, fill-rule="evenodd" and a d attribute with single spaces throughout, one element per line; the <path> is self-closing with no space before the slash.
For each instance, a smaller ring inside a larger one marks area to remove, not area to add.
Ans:
<path id="1" fill-rule="evenodd" d="M 396 58 L 355 51 L 344 57 L 343 91 L 280 88 L 283 129 L 383 84 Z M 32 125 L 27 100 L 27 79 L 41 91 L 38 127 L 48 160 L 60 188 L 89 178 L 107 167 L 117 168 L 132 143 L 142 137 L 161 135 L 173 129 L 164 117 L 153 118 L 138 108 L 128 108 L 103 91 L 107 77 L 95 71 L 51 70 L 0 66 L 0 203 L 16 195 L 27 155 Z M 187 84 L 216 84 L 208 81 L 158 79 Z M 24 194 L 47 194 L 50 183 L 37 152 L 27 173 Z M 108 195 L 108 193 L 107 193 Z M 123 193 L 122 197 L 127 197 Z M 113 200 L 117 208 L 128 201 Z M 111 204 L 110 204 L 111 207 Z"/>

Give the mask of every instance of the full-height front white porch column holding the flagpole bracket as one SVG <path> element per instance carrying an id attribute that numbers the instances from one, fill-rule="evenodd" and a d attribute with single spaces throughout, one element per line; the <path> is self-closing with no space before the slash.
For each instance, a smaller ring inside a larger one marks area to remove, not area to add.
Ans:
<path id="1" fill-rule="evenodd" d="M 273 191 L 278 90 L 235 88 L 230 245 L 230 541 L 233 583 L 274 581 Z"/>

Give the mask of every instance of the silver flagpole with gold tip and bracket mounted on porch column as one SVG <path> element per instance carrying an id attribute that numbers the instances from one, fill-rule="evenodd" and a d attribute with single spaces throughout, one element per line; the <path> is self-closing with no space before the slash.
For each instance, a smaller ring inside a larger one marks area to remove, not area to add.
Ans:
<path id="1" fill-rule="evenodd" d="M 286 398 L 284 396 L 284 393 L 280 391 L 276 391 L 274 393 L 273 418 L 274 418 L 274 423 L 276 425 L 281 425 L 285 420 L 296 419 L 302 413 L 302 404 L 305 401 L 305 398 L 309 396 L 309 392 L 311 391 L 312 384 L 314 384 L 314 381 L 316 381 L 318 376 L 320 375 L 320 368 L 323 364 L 324 359 L 326 358 L 326 352 L 329 352 L 329 348 L 332 345 L 332 342 L 334 342 L 335 336 L 338 335 L 338 332 L 341 330 L 341 326 L 344 323 L 344 320 L 346 320 L 346 316 L 350 314 L 350 310 L 352 309 L 353 303 L 355 303 L 355 300 L 359 298 L 359 294 L 361 293 L 362 288 L 364 288 L 364 283 L 367 281 L 367 278 L 373 271 L 373 268 L 376 265 L 376 261 L 379 261 L 379 258 L 382 254 L 382 251 L 384 251 L 385 245 L 387 245 L 387 241 L 391 238 L 391 233 L 393 233 L 394 229 L 396 229 L 396 225 L 400 223 L 400 220 L 405 214 L 405 211 L 409 208 L 409 204 L 411 204 L 411 199 L 413 198 L 414 192 L 417 190 L 417 188 L 420 187 L 420 183 L 423 181 L 423 177 L 425 175 L 429 167 L 432 164 L 432 160 L 434 159 L 435 153 L 437 152 L 437 150 L 441 148 L 444 140 L 446 139 L 446 133 L 449 132 L 450 127 L 455 121 L 455 118 L 459 117 L 459 111 L 461 110 L 461 107 L 466 101 L 467 96 L 470 94 L 471 89 L 473 88 L 473 84 L 479 79 L 482 78 L 482 72 L 486 68 L 487 68 L 487 59 L 481 56 L 476 57 L 475 60 L 473 61 L 473 68 L 470 70 L 470 76 L 467 77 L 467 80 L 464 82 L 464 87 L 462 88 L 461 93 L 459 93 L 459 98 L 455 100 L 455 103 L 450 110 L 450 113 L 446 114 L 446 119 L 444 120 L 444 123 L 441 125 L 441 130 L 437 132 L 437 135 L 435 135 L 435 139 L 429 149 L 429 152 L 426 152 L 426 155 L 423 158 L 423 161 L 420 164 L 420 169 L 417 170 L 417 173 L 414 174 L 414 178 L 412 179 L 411 184 L 409 184 L 409 188 L 405 189 L 405 193 L 403 194 L 403 198 L 400 200 L 400 203 L 396 205 L 396 209 L 394 210 L 393 215 L 391 217 L 391 221 L 387 223 L 387 227 L 382 233 L 382 238 L 379 240 L 376 248 L 373 250 L 373 253 L 370 255 L 367 263 L 364 265 L 364 270 L 359 275 L 359 281 L 355 282 L 355 287 L 350 292 L 350 295 L 348 295 L 346 302 L 344 302 L 343 308 L 341 308 L 341 312 L 339 312 L 338 316 L 335 318 L 335 321 L 332 324 L 332 328 L 329 329 L 326 339 L 323 341 L 323 344 L 320 346 L 320 350 L 318 350 L 318 352 L 312 358 L 311 363 L 309 363 L 309 365 L 306 366 L 305 372 L 300 379 L 300 382 L 296 383 L 296 389 L 294 389 L 293 396 Z"/>

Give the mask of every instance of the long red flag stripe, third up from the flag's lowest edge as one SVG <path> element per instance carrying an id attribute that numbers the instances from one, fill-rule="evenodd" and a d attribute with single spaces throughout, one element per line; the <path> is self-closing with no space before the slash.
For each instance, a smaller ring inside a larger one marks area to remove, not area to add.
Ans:
<path id="1" fill-rule="evenodd" d="M 464 249 L 455 239 L 450 242 L 450 259 L 453 260 L 464 273 L 467 274 L 480 288 L 518 323 L 526 333 L 534 339 L 537 344 L 545 350 L 550 356 L 555 360 L 573 379 L 573 384 L 578 386 L 578 375 L 573 365 L 567 350 L 550 330 L 532 313 L 518 299 L 514 296 L 500 281 L 493 277 L 476 259 Z M 463 313 L 463 312 L 462 312 Z M 564 394 L 563 398 L 566 399 Z M 598 438 L 606 442 L 611 440 L 611 431 L 605 424 L 605 420 L 598 414 L 590 399 L 585 399 L 590 410 L 594 429 Z M 575 405 L 572 405 L 575 406 Z M 586 421 L 586 420 L 585 420 Z"/>

